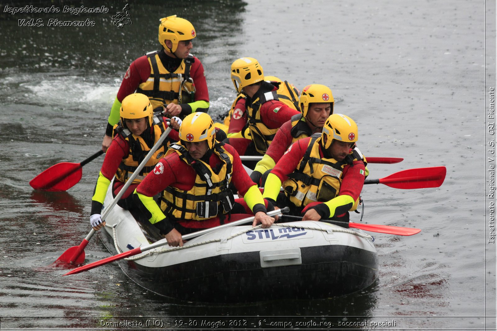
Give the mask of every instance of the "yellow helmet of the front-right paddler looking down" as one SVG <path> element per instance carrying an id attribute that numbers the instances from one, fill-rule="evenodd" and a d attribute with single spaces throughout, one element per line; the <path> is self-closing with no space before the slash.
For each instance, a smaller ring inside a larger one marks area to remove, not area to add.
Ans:
<path id="1" fill-rule="evenodd" d="M 321 144 L 328 149 L 333 139 L 356 142 L 358 137 L 357 124 L 350 117 L 343 114 L 333 114 L 325 122 Z"/>

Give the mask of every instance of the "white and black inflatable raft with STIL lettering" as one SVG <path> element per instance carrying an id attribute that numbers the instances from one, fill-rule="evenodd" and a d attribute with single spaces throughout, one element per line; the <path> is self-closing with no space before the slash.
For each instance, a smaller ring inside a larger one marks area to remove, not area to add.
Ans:
<path id="1" fill-rule="evenodd" d="M 104 208 L 112 201 L 110 187 Z M 105 241 L 113 254 L 157 238 L 117 205 L 106 223 Z M 190 239 L 182 248 L 166 244 L 125 260 L 123 270 L 138 284 L 200 302 L 327 298 L 362 290 L 378 275 L 370 235 L 318 221 L 226 227 Z"/>

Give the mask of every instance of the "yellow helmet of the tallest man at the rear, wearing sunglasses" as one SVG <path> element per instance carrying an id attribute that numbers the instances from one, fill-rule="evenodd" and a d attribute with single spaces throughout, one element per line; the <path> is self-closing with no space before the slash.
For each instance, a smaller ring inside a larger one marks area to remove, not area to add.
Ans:
<path id="1" fill-rule="evenodd" d="M 160 21 L 159 42 L 171 53 L 176 51 L 179 41 L 190 40 L 197 36 L 193 25 L 184 18 L 172 15 L 161 18 Z M 166 40 L 170 40 L 172 42 L 171 48 L 166 46 Z"/>

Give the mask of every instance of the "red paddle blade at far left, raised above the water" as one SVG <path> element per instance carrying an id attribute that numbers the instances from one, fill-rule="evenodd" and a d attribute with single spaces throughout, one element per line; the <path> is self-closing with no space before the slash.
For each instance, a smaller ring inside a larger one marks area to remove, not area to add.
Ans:
<path id="1" fill-rule="evenodd" d="M 66 191 L 76 185 L 82 175 L 80 163 L 62 162 L 33 178 L 29 185 L 35 190 Z"/>

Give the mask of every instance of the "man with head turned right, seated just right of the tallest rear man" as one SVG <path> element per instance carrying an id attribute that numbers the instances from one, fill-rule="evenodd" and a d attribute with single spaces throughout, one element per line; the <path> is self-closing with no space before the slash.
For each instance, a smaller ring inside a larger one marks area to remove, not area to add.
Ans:
<path id="1" fill-rule="evenodd" d="M 247 95 L 245 106 L 250 136 L 225 141 L 240 155 L 264 155 L 278 129 L 300 112 L 291 100 L 279 96 L 279 84 L 264 80 L 262 66 L 253 58 L 233 62 L 231 79 L 237 92 Z"/>

